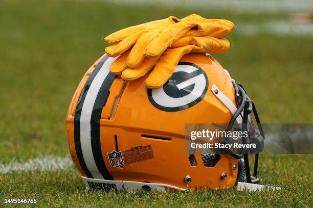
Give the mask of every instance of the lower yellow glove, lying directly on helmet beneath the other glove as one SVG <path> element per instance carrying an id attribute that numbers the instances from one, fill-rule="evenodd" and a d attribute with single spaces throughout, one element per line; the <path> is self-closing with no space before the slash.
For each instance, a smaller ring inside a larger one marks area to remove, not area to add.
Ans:
<path id="1" fill-rule="evenodd" d="M 230 42 L 225 38 L 204 37 L 183 37 L 176 40 L 168 48 L 163 56 L 145 58 L 137 68 L 127 66 L 127 57 L 131 53 L 128 49 L 110 67 L 114 74 L 122 74 L 122 79 L 132 81 L 139 79 L 154 69 L 146 79 L 148 88 L 162 87 L 171 77 L 180 59 L 189 53 L 223 53 L 230 48 Z"/>

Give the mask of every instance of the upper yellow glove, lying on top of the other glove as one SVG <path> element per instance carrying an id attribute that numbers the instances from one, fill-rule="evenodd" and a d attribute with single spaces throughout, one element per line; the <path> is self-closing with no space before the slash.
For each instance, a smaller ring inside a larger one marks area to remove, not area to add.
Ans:
<path id="1" fill-rule="evenodd" d="M 191 30 L 195 28 L 195 30 Z M 127 66 L 137 68 L 145 57 L 159 57 L 173 41 L 183 36 L 220 37 L 231 32 L 234 24 L 229 20 L 205 19 L 191 14 L 183 19 L 170 16 L 167 19 L 129 27 L 117 31 L 106 38 L 104 42 L 118 42 L 105 48 L 109 57 L 116 57 L 124 53 L 131 46 L 132 49 L 126 59 Z"/>

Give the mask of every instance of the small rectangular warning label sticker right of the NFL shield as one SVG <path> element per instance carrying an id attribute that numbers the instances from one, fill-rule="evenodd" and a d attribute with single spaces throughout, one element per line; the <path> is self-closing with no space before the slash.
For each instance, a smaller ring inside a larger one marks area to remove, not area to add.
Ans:
<path id="1" fill-rule="evenodd" d="M 154 158 L 151 145 L 131 147 L 123 151 L 125 164 L 138 163 Z"/>

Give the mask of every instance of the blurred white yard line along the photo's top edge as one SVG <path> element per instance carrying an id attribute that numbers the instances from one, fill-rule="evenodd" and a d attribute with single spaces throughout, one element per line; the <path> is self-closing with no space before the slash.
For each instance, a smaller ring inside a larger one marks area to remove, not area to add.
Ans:
<path id="1" fill-rule="evenodd" d="M 94 0 L 80 0 L 94 1 Z M 97 0 L 104 1 L 104 0 Z M 207 11 L 231 10 L 239 12 L 298 12 L 313 10 L 311 0 L 108 0 L 114 4 L 125 5 L 162 5 L 178 8 L 201 9 Z"/>

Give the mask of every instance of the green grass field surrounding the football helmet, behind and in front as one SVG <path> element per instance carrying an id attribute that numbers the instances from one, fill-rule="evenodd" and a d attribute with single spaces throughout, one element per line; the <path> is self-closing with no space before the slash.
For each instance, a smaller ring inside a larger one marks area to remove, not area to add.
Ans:
<path id="1" fill-rule="evenodd" d="M 240 24 L 284 20 L 287 13 L 239 13 L 127 6 L 102 1 L 0 2 L 0 164 L 68 157 L 65 114 L 86 69 L 103 54 L 102 38 L 129 25 L 198 13 Z M 264 123 L 313 122 L 313 36 L 239 33 L 214 57 L 244 84 Z M 261 184 L 280 192 L 86 192 L 79 172 L 0 172 L 0 198 L 37 197 L 39 206 L 312 207 L 313 155 L 261 155 Z M 1 167 L 1 166 L 0 166 Z M 1 206 L 1 205 L 0 205 Z"/>

